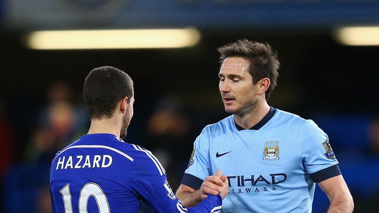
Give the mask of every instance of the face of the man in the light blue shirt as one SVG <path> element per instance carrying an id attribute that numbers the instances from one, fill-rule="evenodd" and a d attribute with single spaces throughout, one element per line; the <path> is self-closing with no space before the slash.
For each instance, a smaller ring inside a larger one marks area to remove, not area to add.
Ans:
<path id="1" fill-rule="evenodd" d="M 219 89 L 225 111 L 243 115 L 249 113 L 257 102 L 257 84 L 249 73 L 249 61 L 241 57 L 228 57 L 219 72 Z"/>

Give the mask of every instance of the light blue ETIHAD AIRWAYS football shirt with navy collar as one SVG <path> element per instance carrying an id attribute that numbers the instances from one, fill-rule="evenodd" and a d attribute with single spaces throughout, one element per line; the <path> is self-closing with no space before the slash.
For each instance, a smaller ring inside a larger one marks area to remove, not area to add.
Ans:
<path id="1" fill-rule="evenodd" d="M 182 184 L 198 189 L 218 169 L 229 181 L 222 213 L 310 213 L 315 182 L 341 174 L 328 136 L 313 121 L 272 107 L 249 130 L 234 115 L 206 126 Z"/>

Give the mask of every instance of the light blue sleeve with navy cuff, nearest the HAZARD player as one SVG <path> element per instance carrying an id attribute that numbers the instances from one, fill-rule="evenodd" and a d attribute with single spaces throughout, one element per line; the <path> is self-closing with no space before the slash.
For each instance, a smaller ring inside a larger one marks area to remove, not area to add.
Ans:
<path id="1" fill-rule="evenodd" d="M 181 183 L 194 189 L 200 188 L 203 180 L 212 175 L 209 162 L 209 136 L 204 129 L 193 143 L 192 155 Z"/>

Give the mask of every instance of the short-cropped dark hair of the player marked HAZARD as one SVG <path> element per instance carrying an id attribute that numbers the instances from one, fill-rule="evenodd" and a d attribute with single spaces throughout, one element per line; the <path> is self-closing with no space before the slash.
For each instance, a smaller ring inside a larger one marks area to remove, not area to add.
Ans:
<path id="1" fill-rule="evenodd" d="M 114 67 L 99 67 L 89 72 L 84 81 L 84 103 L 91 119 L 111 118 L 117 103 L 133 97 L 132 78 Z"/>

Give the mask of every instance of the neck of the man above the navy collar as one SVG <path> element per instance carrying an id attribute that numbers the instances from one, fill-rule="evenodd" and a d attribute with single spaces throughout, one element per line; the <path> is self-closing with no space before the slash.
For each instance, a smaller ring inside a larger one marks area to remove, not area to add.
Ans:
<path id="1" fill-rule="evenodd" d="M 250 129 L 260 122 L 270 110 L 266 101 L 257 103 L 253 108 L 242 115 L 234 115 L 235 122 L 244 129 Z"/>

